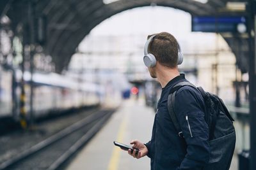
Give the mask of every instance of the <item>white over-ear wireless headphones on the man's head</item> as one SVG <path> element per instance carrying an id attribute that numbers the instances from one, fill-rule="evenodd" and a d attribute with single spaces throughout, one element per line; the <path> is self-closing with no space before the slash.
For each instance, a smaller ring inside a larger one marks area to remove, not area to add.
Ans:
<path id="1" fill-rule="evenodd" d="M 144 46 L 144 57 L 143 57 L 143 61 L 145 66 L 147 67 L 154 67 L 156 66 L 156 57 L 152 54 L 152 53 L 148 53 L 148 45 L 150 43 L 150 41 L 155 37 L 154 36 L 150 36 L 150 38 L 148 38 L 148 41 L 146 42 L 145 46 Z M 182 52 L 180 51 L 180 47 L 178 47 L 178 60 L 177 60 L 177 64 L 182 64 L 183 62 L 183 55 Z"/>

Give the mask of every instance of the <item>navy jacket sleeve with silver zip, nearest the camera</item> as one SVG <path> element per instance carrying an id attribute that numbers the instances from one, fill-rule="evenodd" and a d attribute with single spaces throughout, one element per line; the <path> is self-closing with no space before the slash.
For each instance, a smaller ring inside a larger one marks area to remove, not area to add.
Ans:
<path id="1" fill-rule="evenodd" d="M 202 169 L 209 161 L 209 128 L 204 107 L 204 100 L 195 89 L 178 90 L 174 111 L 187 143 L 187 153 L 178 170 Z"/>

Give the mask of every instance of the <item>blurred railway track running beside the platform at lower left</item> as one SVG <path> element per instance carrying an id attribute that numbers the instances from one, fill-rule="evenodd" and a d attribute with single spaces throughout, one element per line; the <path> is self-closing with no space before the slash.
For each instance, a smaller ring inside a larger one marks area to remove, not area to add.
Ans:
<path id="1" fill-rule="evenodd" d="M 28 150 L 0 164 L 0 170 L 60 169 L 84 146 L 115 110 L 101 110 L 79 120 Z"/>

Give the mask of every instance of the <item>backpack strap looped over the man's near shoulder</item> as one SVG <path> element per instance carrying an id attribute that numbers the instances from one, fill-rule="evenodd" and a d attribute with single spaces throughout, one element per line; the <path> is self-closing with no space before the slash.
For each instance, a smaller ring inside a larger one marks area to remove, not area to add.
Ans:
<path id="1" fill-rule="evenodd" d="M 170 115 L 173 125 L 180 137 L 183 137 L 183 134 L 182 134 L 182 130 L 180 128 L 180 124 L 177 120 L 177 116 L 174 111 L 174 104 L 175 104 L 175 96 L 176 96 L 177 90 L 179 90 L 181 87 L 184 87 L 186 85 L 189 85 L 196 89 L 195 85 L 193 85 L 192 83 L 189 83 L 189 81 L 180 81 L 179 83 L 174 85 L 173 88 L 170 90 L 169 95 L 168 95 L 168 100 L 167 100 L 169 115 Z"/>

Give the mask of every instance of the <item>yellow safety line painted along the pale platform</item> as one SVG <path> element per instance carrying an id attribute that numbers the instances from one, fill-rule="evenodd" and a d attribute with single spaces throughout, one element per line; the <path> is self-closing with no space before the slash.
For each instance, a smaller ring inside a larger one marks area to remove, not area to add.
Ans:
<path id="1" fill-rule="evenodd" d="M 127 117 L 124 117 L 122 123 L 120 124 L 120 128 L 119 128 L 118 135 L 116 138 L 116 141 L 118 141 L 120 143 L 123 143 L 126 125 L 127 125 Z M 120 158 L 120 151 L 122 151 L 122 150 L 119 147 L 114 146 L 113 152 L 111 155 L 111 159 L 108 164 L 108 170 L 117 170 L 119 158 Z"/>

